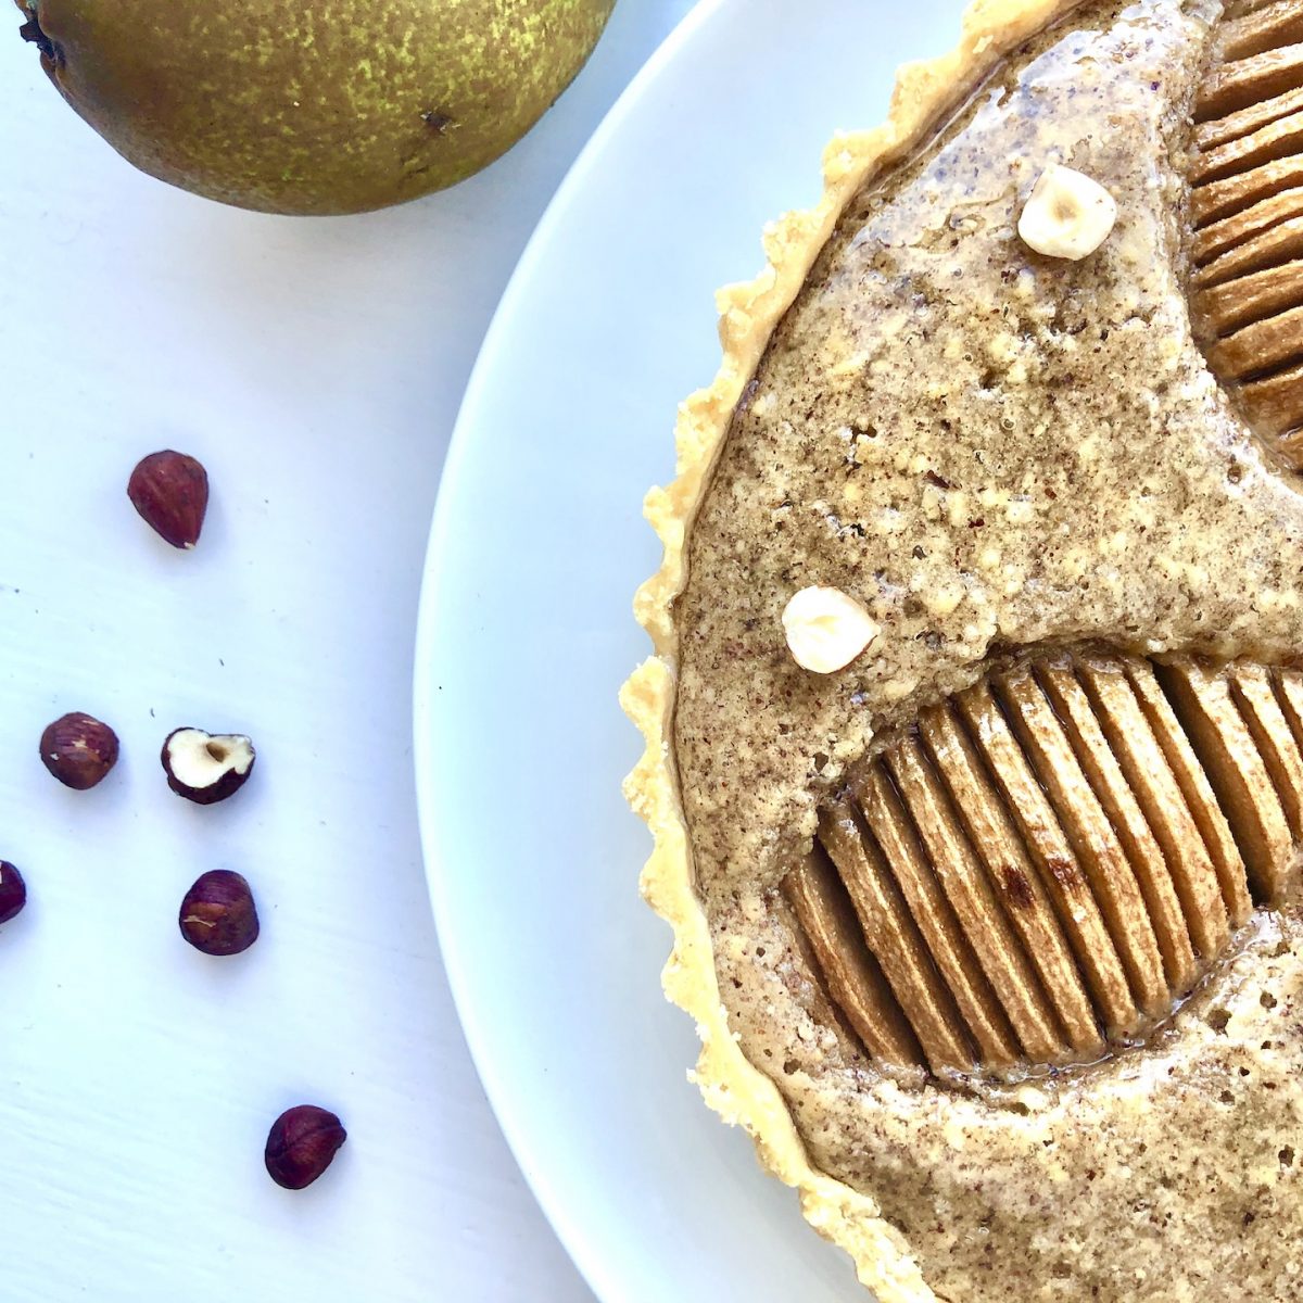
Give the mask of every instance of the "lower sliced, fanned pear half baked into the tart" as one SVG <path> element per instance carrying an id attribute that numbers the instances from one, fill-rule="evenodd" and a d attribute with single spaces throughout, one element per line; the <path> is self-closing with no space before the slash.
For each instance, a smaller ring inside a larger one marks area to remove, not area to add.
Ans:
<path id="1" fill-rule="evenodd" d="M 880 1063 L 934 1072 L 1143 1037 L 1287 891 L 1300 726 L 1293 670 L 995 670 L 861 766 L 784 881 L 827 998 Z"/>

